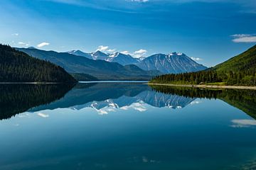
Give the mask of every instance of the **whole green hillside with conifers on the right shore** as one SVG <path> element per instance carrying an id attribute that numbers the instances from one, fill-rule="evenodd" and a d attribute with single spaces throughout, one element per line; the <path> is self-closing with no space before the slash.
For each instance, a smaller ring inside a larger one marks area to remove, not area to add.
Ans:
<path id="1" fill-rule="evenodd" d="M 256 45 L 227 62 L 201 72 L 165 74 L 151 83 L 256 86 Z"/>

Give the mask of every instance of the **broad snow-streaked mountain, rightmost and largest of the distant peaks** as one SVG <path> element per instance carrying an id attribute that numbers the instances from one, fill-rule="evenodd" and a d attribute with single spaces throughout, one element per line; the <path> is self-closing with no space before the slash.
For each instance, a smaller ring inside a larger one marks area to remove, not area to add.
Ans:
<path id="1" fill-rule="evenodd" d="M 172 52 L 169 55 L 156 54 L 146 57 L 136 64 L 144 70 L 159 70 L 162 73 L 197 72 L 207 67 L 198 64 L 183 53 Z"/>

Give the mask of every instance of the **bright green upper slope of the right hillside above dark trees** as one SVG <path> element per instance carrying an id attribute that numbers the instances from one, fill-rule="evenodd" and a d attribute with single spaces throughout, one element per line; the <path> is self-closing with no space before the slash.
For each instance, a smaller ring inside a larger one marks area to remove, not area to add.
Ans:
<path id="1" fill-rule="evenodd" d="M 243 71 L 255 71 L 256 68 L 256 45 L 251 47 L 242 54 L 230 58 L 223 63 L 220 63 L 213 67 L 218 72 L 243 72 Z"/>

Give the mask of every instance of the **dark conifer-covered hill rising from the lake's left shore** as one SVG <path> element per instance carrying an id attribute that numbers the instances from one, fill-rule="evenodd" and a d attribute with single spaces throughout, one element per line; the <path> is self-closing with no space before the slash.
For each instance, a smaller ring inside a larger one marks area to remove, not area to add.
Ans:
<path id="1" fill-rule="evenodd" d="M 63 68 L 48 61 L 30 57 L 8 45 L 0 45 L 0 81 L 76 82 Z"/>

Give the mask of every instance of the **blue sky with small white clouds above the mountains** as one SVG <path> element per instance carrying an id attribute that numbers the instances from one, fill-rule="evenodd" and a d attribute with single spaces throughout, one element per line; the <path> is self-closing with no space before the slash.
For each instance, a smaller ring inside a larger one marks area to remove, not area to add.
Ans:
<path id="1" fill-rule="evenodd" d="M 255 0 L 1 0 L 0 12 L 14 47 L 176 51 L 213 66 L 256 44 Z"/>

